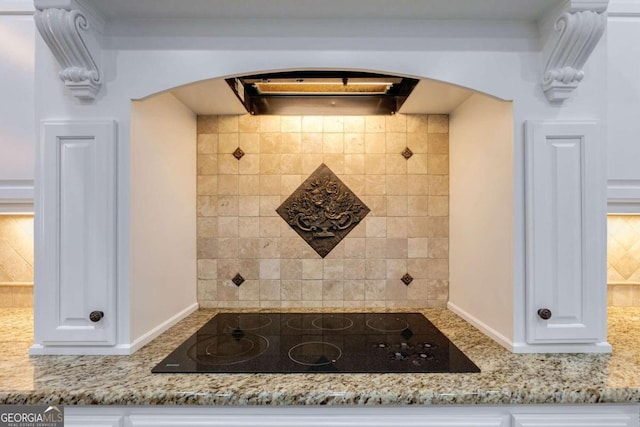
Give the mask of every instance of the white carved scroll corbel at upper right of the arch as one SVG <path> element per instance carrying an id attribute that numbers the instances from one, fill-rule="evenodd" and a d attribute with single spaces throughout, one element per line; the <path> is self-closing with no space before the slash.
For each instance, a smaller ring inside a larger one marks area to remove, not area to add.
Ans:
<path id="1" fill-rule="evenodd" d="M 608 0 L 566 1 L 539 24 L 543 46 L 542 89 L 550 102 L 569 98 L 607 26 Z"/>

